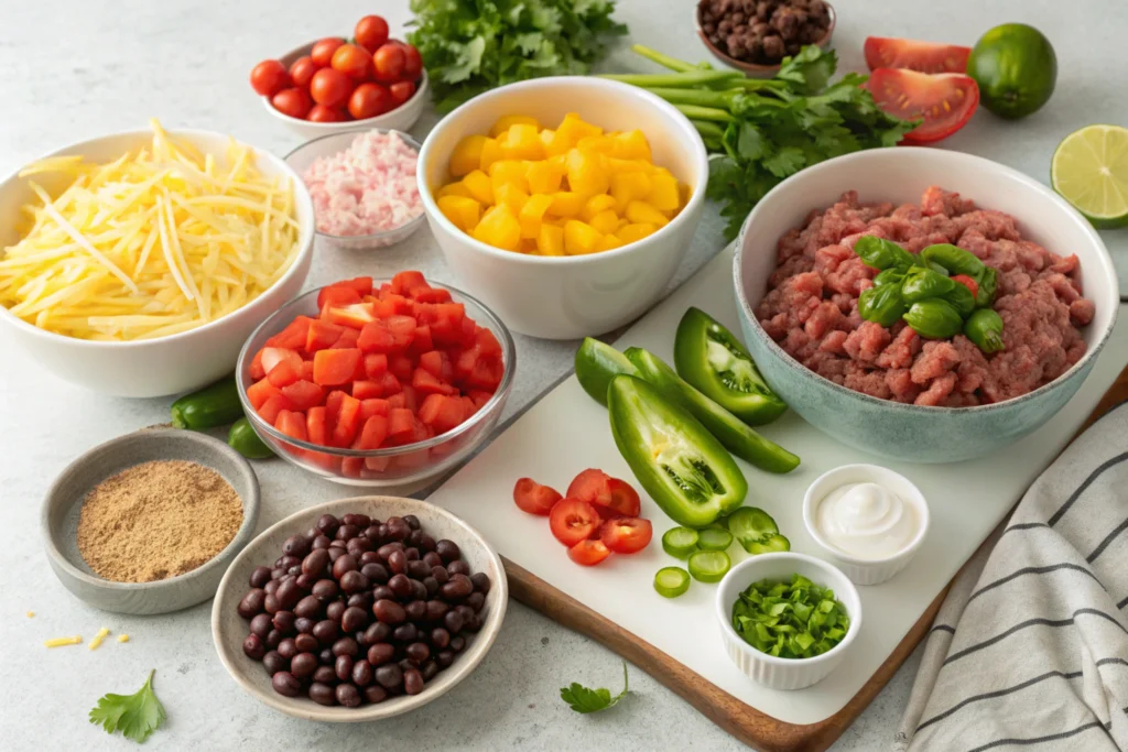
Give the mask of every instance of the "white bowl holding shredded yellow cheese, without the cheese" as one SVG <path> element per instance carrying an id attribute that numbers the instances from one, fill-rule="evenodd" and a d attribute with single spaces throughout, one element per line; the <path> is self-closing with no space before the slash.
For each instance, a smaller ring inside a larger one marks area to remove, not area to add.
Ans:
<path id="1" fill-rule="evenodd" d="M 230 138 L 211 131 L 170 131 L 170 135 L 196 149 L 222 158 Z M 81 141 L 58 149 L 45 157 L 82 154 L 109 162 L 126 151 L 152 143 L 151 131 L 124 131 Z M 314 257 L 314 204 L 290 167 L 270 152 L 255 149 L 256 166 L 270 177 L 281 175 L 293 185 L 294 213 L 298 218 L 298 255 L 290 269 L 270 290 L 223 318 L 180 334 L 136 342 L 94 342 L 65 337 L 39 329 L 0 307 L 0 322 L 11 337 L 45 369 L 60 379 L 120 397 L 162 397 L 191 391 L 215 381 L 235 369 L 239 348 L 262 321 L 282 303 L 293 298 L 309 274 Z M 36 175 L 36 183 L 56 194 L 67 185 L 59 175 Z M 28 180 L 17 172 L 0 183 L 0 249 L 15 244 L 19 207 L 34 201 Z M 2 253 L 2 251 L 0 251 Z"/>

